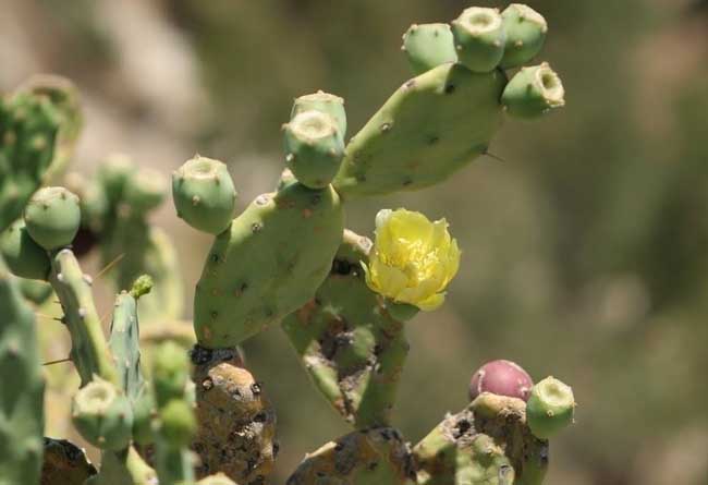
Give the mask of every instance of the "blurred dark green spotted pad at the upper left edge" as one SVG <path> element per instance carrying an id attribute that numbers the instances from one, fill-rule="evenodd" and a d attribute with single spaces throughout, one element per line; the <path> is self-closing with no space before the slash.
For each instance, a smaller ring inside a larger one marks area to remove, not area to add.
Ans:
<path id="1" fill-rule="evenodd" d="M 22 215 L 54 156 L 61 117 L 44 96 L 0 98 L 0 231 Z"/>

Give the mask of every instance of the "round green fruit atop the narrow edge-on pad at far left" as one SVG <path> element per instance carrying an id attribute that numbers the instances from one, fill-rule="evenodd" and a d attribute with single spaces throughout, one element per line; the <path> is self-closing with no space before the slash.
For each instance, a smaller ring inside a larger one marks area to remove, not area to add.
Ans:
<path id="1" fill-rule="evenodd" d="M 44 187 L 29 199 L 24 214 L 27 232 L 47 251 L 71 244 L 81 225 L 78 197 L 64 187 Z"/>

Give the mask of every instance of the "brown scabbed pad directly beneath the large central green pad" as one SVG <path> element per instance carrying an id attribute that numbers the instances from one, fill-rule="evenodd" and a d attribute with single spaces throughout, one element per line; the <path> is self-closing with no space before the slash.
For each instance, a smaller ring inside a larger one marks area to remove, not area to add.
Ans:
<path id="1" fill-rule="evenodd" d="M 267 485 L 278 452 L 276 413 L 237 350 L 192 350 L 199 477 L 221 472 L 239 484 Z"/>

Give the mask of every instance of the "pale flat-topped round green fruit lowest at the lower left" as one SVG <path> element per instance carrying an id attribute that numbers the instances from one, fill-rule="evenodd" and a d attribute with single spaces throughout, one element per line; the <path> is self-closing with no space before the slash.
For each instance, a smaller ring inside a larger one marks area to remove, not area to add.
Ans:
<path id="1" fill-rule="evenodd" d="M 111 451 L 131 442 L 133 411 L 125 393 L 111 383 L 94 377 L 72 401 L 72 422 L 91 445 Z"/>

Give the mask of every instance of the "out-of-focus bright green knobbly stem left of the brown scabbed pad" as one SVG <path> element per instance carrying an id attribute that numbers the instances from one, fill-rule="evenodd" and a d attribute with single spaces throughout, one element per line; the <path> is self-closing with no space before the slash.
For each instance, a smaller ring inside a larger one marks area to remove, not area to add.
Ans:
<path id="1" fill-rule="evenodd" d="M 196 422 L 185 397 L 188 378 L 186 352 L 172 342 L 158 347 L 152 381 L 157 402 L 156 469 L 160 485 L 194 483 L 194 460 L 188 446 Z"/>

